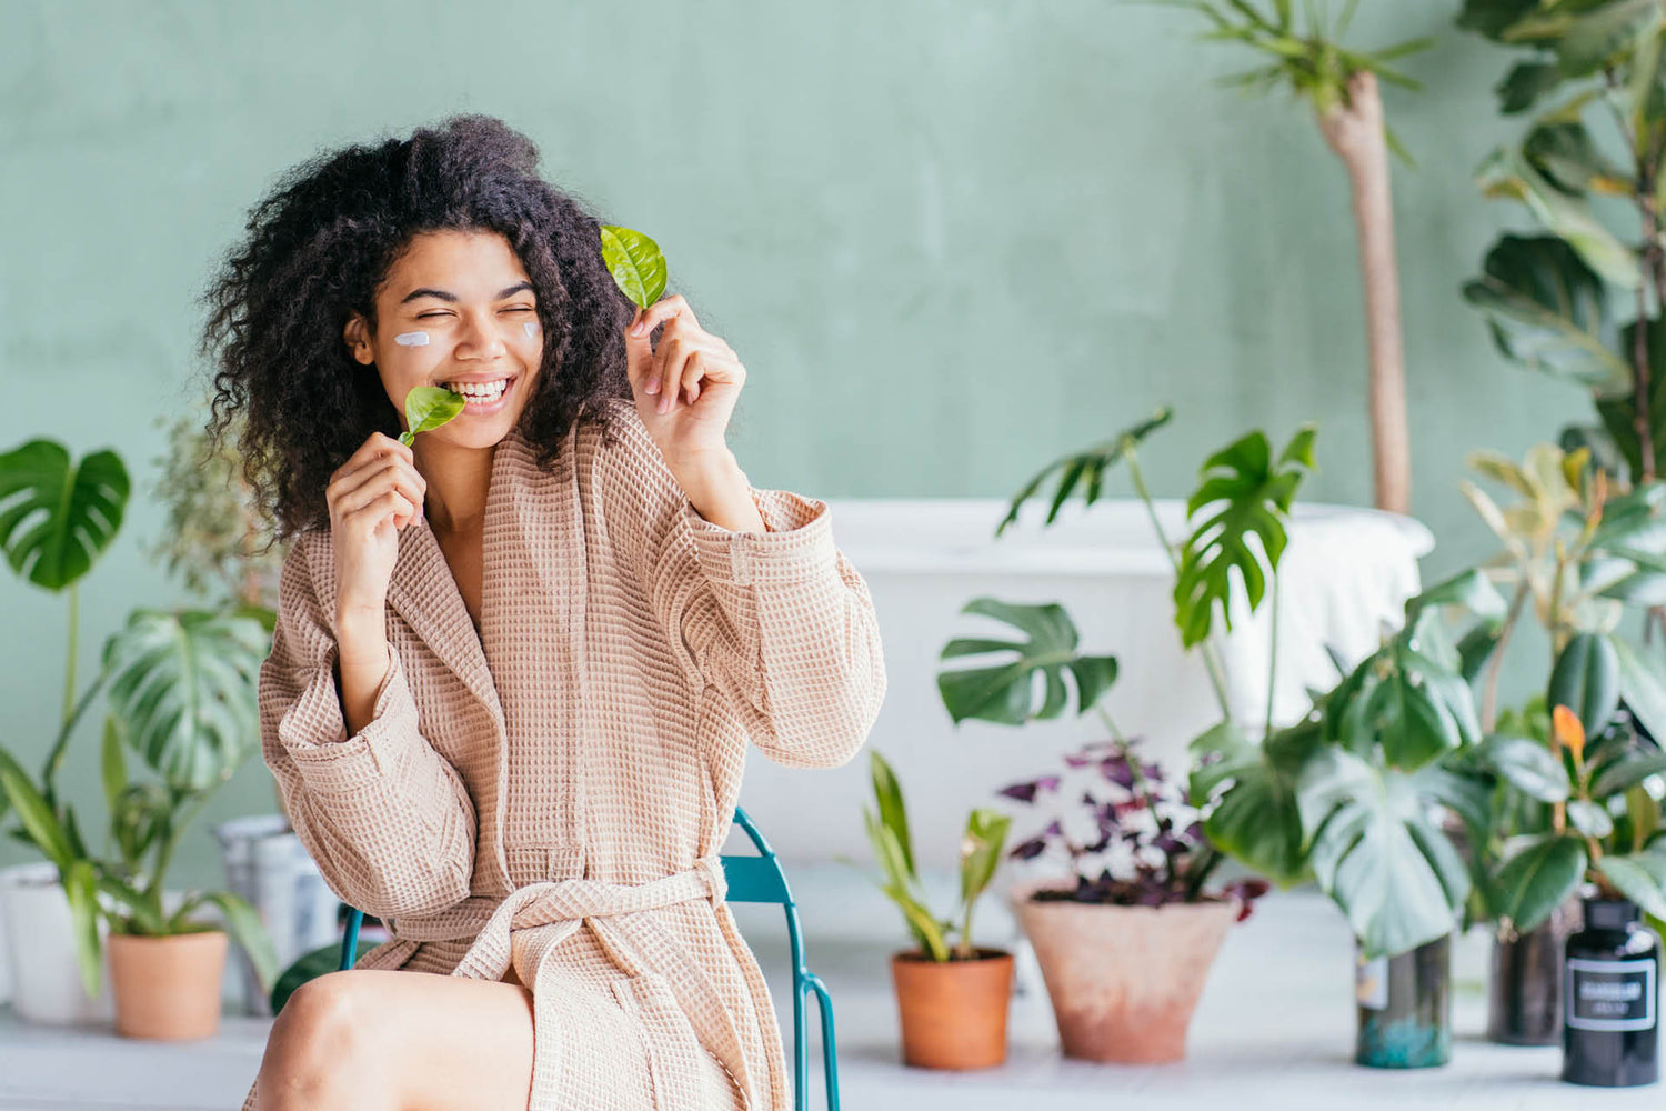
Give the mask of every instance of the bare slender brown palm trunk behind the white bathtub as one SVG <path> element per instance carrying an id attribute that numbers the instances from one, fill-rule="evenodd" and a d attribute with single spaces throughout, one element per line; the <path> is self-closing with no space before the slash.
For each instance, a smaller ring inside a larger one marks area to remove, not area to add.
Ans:
<path id="1" fill-rule="evenodd" d="M 1394 260 L 1394 205 L 1388 185 L 1388 137 L 1376 75 L 1348 82 L 1348 103 L 1319 115 L 1319 130 L 1348 167 L 1364 335 L 1371 360 L 1371 456 L 1376 508 L 1411 511 L 1411 433 L 1406 423 L 1406 348 L 1399 331 L 1399 267 Z"/>

